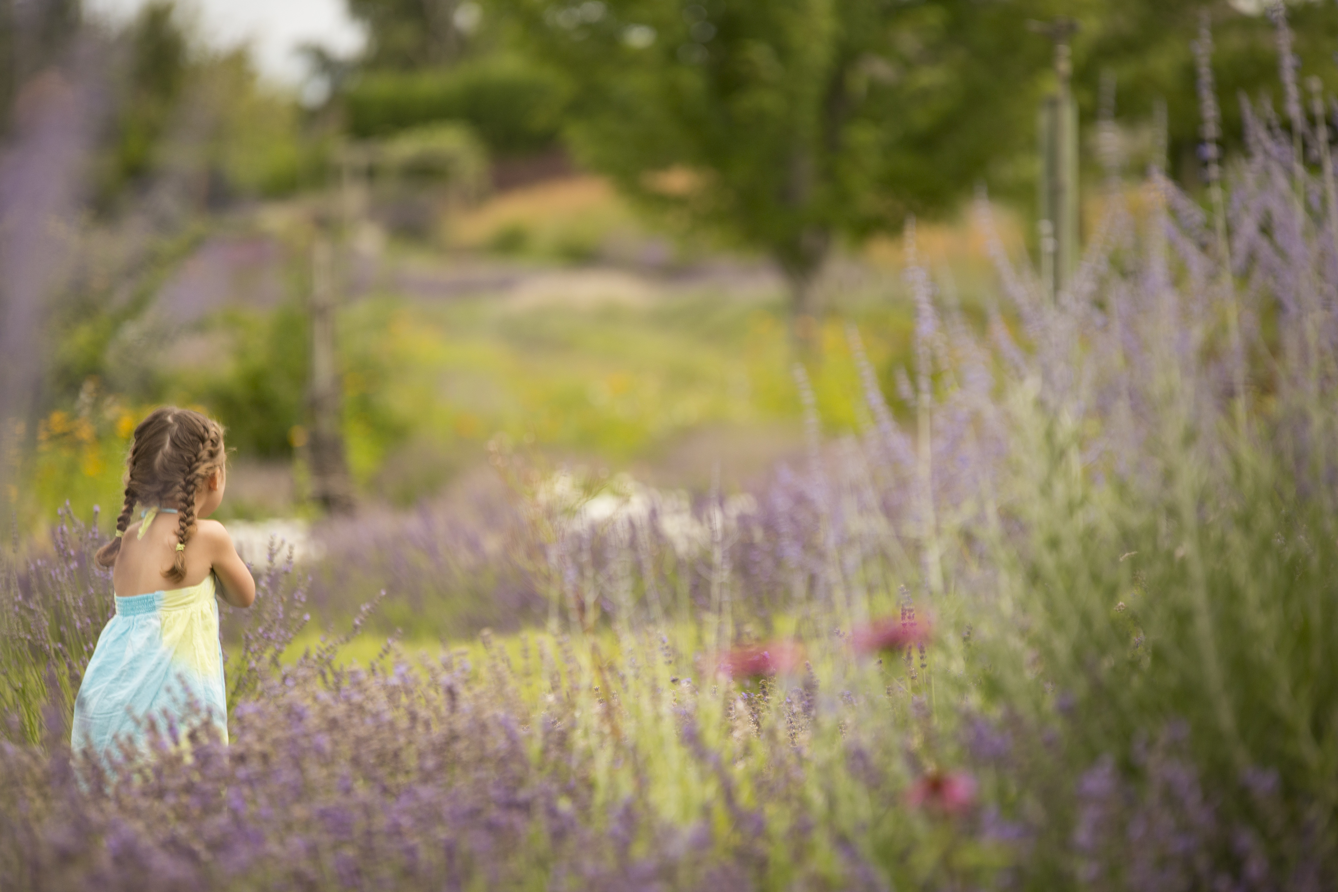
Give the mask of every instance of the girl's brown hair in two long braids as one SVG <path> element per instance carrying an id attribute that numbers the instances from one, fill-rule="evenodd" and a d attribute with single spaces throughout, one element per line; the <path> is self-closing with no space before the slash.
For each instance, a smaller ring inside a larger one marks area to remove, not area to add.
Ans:
<path id="1" fill-rule="evenodd" d="M 126 499 L 116 518 L 116 538 L 98 550 L 98 563 L 111 567 L 130 527 L 135 506 L 177 508 L 177 556 L 163 576 L 186 578 L 186 543 L 195 527 L 195 489 L 223 465 L 223 428 L 199 412 L 163 407 L 135 428 L 126 459 Z"/>

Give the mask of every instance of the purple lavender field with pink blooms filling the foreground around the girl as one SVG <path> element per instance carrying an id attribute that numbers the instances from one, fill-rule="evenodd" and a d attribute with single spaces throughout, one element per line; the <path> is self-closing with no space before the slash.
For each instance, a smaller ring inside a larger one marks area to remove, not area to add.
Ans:
<path id="1" fill-rule="evenodd" d="M 859 435 L 796 364 L 804 457 L 745 492 L 495 441 L 467 511 L 276 543 L 229 745 L 71 752 L 106 520 L 0 552 L 0 888 L 1338 887 L 1338 106 L 1282 23 L 1219 164 L 1199 40 L 1202 190 L 1108 154 L 1076 278 L 994 238 L 983 326 L 913 222 Z M 492 629 L 348 655 L 447 612 Z"/>

